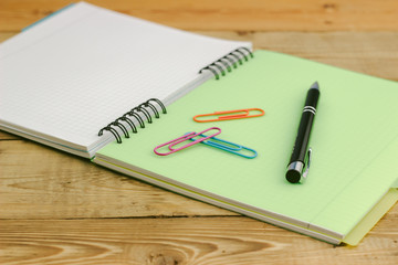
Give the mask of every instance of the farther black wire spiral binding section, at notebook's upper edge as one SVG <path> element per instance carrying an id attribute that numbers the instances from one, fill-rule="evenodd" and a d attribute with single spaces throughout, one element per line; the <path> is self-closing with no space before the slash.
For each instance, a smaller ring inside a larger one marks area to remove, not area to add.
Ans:
<path id="1" fill-rule="evenodd" d="M 213 63 L 202 67 L 199 71 L 199 74 L 201 74 L 205 70 L 208 70 L 216 76 L 216 80 L 219 80 L 220 74 L 221 76 L 226 75 L 226 70 L 228 72 L 231 72 L 232 68 L 238 67 L 237 66 L 238 63 L 240 65 L 243 64 L 242 60 L 244 60 L 245 62 L 249 61 L 249 56 L 254 57 L 253 53 L 248 47 L 244 46 L 238 47 L 232 52 L 230 52 L 229 54 L 214 61 Z"/>

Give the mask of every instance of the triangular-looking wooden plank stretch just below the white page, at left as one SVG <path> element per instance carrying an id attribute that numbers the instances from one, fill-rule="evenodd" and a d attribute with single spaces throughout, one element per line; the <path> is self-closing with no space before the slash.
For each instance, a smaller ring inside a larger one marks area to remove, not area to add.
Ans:
<path id="1" fill-rule="evenodd" d="M 0 141 L 1 219 L 239 215 L 29 140 Z"/>

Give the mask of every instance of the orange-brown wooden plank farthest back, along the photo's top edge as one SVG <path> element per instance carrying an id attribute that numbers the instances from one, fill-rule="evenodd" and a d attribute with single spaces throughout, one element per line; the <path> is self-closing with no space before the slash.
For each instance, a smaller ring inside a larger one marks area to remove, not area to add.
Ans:
<path id="1" fill-rule="evenodd" d="M 185 30 L 396 31 L 396 0 L 187 0 L 90 2 Z M 0 31 L 18 31 L 67 6 L 70 0 L 2 0 Z"/>

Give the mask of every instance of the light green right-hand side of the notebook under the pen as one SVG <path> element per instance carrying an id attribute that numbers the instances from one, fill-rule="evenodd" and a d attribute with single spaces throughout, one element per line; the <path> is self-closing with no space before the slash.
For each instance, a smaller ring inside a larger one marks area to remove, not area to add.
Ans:
<path id="1" fill-rule="evenodd" d="M 285 170 L 306 92 L 315 81 L 321 97 L 310 142 L 312 165 L 304 184 L 291 184 Z M 122 145 L 104 147 L 95 161 L 338 243 L 396 182 L 396 98 L 395 82 L 256 51 L 250 62 L 197 87 Z M 242 108 L 262 108 L 265 115 L 219 123 L 192 120 L 198 114 Z M 201 144 L 166 157 L 154 153 L 160 144 L 212 126 L 222 130 L 218 138 L 250 147 L 258 157 L 245 159 Z"/>

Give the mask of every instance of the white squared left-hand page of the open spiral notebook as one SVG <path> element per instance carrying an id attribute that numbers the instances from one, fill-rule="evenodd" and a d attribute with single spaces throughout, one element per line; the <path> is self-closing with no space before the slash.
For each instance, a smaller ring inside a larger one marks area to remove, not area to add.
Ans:
<path id="1" fill-rule="evenodd" d="M 0 124 L 91 149 L 108 123 L 242 45 L 80 2 L 0 45 Z"/>

